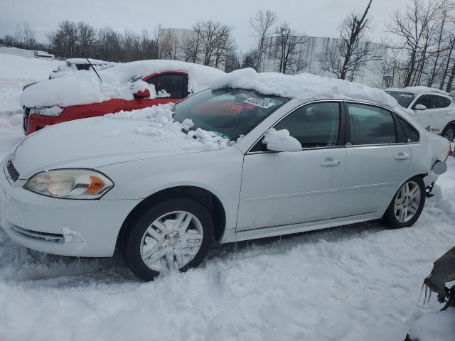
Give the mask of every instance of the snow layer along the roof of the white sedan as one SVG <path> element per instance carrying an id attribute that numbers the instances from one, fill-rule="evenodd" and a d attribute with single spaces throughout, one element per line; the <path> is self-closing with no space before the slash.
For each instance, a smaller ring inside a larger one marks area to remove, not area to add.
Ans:
<path id="1" fill-rule="evenodd" d="M 347 80 L 321 77 L 309 73 L 283 75 L 277 72 L 257 73 L 251 68 L 235 70 L 212 82 L 213 89 L 223 87 L 256 90 L 261 94 L 296 98 L 301 102 L 312 99 L 356 99 L 395 109 L 398 102 L 389 94 Z"/>

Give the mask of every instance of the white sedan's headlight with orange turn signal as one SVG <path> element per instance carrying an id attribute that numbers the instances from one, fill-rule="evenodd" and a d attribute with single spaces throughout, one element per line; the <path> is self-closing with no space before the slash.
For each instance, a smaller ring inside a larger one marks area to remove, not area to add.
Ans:
<path id="1" fill-rule="evenodd" d="M 33 175 L 23 188 L 32 192 L 65 199 L 98 199 L 114 183 L 100 172 L 68 168 Z"/>

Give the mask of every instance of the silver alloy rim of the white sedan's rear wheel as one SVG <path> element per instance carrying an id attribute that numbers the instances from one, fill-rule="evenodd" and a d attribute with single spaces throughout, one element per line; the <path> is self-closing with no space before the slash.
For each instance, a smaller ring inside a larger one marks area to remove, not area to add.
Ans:
<path id="1" fill-rule="evenodd" d="M 394 204 L 397 220 L 401 223 L 409 222 L 419 210 L 420 200 L 422 200 L 422 197 L 417 183 L 408 181 L 402 185 Z"/>

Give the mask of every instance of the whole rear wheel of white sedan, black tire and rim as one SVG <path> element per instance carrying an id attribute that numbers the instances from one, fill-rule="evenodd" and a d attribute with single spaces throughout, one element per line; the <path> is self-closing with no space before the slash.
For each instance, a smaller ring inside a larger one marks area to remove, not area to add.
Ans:
<path id="1" fill-rule="evenodd" d="M 410 197 L 414 189 L 417 190 L 416 195 L 419 195 L 418 205 L 417 198 Z M 405 197 L 405 200 L 402 200 L 402 197 Z M 385 224 L 385 226 L 391 229 L 411 227 L 415 222 L 417 222 L 422 210 L 424 209 L 425 198 L 426 190 L 422 177 L 414 176 L 414 178 L 410 178 L 393 196 L 392 202 L 390 202 L 389 207 L 387 207 L 387 210 L 382 217 L 382 224 Z"/>

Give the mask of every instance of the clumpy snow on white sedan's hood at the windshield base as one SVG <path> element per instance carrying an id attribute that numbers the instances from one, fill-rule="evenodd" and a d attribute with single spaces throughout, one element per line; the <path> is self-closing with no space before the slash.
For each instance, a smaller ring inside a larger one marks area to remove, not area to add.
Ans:
<path id="1" fill-rule="evenodd" d="M 188 148 L 199 148 L 203 151 L 217 151 L 229 146 L 229 140 L 212 131 L 203 129 L 190 130 L 193 122 L 185 119 L 182 123 L 172 118 L 174 103 L 159 104 L 154 107 L 133 110 L 132 112 L 118 112 L 107 114 L 109 119 L 128 119 L 139 121 L 136 133 L 151 136 L 153 141 L 175 139 L 182 136 L 182 131 L 188 131 L 185 135 L 188 139 Z M 103 136 L 114 136 L 113 131 L 106 131 Z"/>

